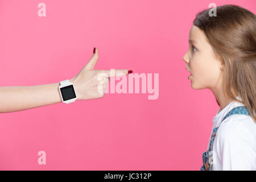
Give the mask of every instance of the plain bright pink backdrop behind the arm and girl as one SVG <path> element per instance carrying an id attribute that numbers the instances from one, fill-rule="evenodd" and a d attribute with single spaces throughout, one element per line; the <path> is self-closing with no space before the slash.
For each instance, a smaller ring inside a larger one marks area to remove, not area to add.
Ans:
<path id="1" fill-rule="evenodd" d="M 95 69 L 159 73 L 157 100 L 115 93 L 0 114 L 0 169 L 199 170 L 218 105 L 191 88 L 182 57 L 192 20 L 212 2 L 0 0 L 0 86 L 72 78 L 94 46 Z M 254 0 L 214 3 L 256 11 Z"/>

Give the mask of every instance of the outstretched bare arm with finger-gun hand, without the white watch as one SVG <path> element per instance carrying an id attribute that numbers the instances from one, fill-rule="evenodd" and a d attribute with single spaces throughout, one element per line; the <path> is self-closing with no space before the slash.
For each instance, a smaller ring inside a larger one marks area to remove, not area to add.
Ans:
<path id="1" fill-rule="evenodd" d="M 93 56 L 84 68 L 69 81 L 76 89 L 77 100 L 91 100 L 105 95 L 106 84 L 110 76 L 127 75 L 129 69 L 110 71 L 96 70 L 98 49 L 94 48 Z M 131 73 L 131 71 L 129 72 Z M 10 113 L 34 107 L 62 102 L 59 93 L 60 83 L 35 86 L 4 86 L 0 88 L 0 113 Z"/>

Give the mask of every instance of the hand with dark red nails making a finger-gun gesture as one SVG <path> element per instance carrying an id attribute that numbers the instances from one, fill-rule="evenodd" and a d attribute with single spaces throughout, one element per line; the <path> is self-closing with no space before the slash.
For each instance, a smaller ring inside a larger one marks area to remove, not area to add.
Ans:
<path id="1" fill-rule="evenodd" d="M 117 69 L 114 75 L 110 75 L 110 71 L 94 69 L 98 61 L 98 49 L 94 48 L 93 52 L 93 56 L 85 67 L 70 80 L 75 86 L 77 100 L 90 100 L 103 97 L 110 76 L 128 74 L 129 69 Z M 129 73 L 132 73 L 132 71 L 129 71 Z"/>

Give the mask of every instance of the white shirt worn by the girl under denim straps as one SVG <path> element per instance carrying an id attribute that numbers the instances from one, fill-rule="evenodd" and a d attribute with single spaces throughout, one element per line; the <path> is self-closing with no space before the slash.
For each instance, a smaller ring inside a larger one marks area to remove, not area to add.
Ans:
<path id="1" fill-rule="evenodd" d="M 237 106 L 244 105 L 232 101 L 213 117 L 212 131 L 219 128 L 213 143 L 212 170 L 256 170 L 256 123 L 245 114 L 233 114 L 221 123 Z"/>

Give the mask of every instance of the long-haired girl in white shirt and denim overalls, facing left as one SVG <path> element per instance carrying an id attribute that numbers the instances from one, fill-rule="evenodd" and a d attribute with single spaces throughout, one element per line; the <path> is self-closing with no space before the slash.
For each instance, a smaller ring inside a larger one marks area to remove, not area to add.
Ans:
<path id="1" fill-rule="evenodd" d="M 256 17 L 236 5 L 201 11 L 183 60 L 193 89 L 210 89 L 220 106 L 201 170 L 256 170 Z"/>

